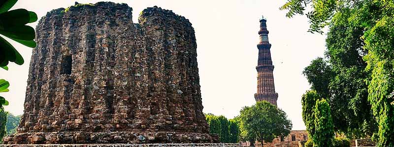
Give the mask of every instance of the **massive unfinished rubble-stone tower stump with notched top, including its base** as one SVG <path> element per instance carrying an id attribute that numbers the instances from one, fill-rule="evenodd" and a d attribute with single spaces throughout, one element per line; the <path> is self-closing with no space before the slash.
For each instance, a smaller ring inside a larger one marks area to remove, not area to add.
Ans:
<path id="1" fill-rule="evenodd" d="M 189 20 L 127 4 L 48 12 L 37 25 L 18 133 L 8 144 L 217 142 L 202 113 Z"/>

